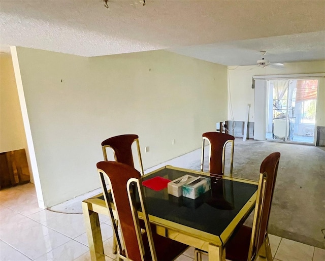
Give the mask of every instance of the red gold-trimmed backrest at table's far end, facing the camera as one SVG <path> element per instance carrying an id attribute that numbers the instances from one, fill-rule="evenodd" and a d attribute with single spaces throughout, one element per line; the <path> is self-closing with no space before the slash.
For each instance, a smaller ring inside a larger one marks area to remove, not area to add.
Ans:
<path id="1" fill-rule="evenodd" d="M 202 135 L 201 171 L 204 168 L 205 141 L 209 143 L 209 172 L 213 174 L 224 174 L 225 147 L 231 143 L 230 175 L 233 175 L 235 137 L 229 134 L 208 132 Z"/>

